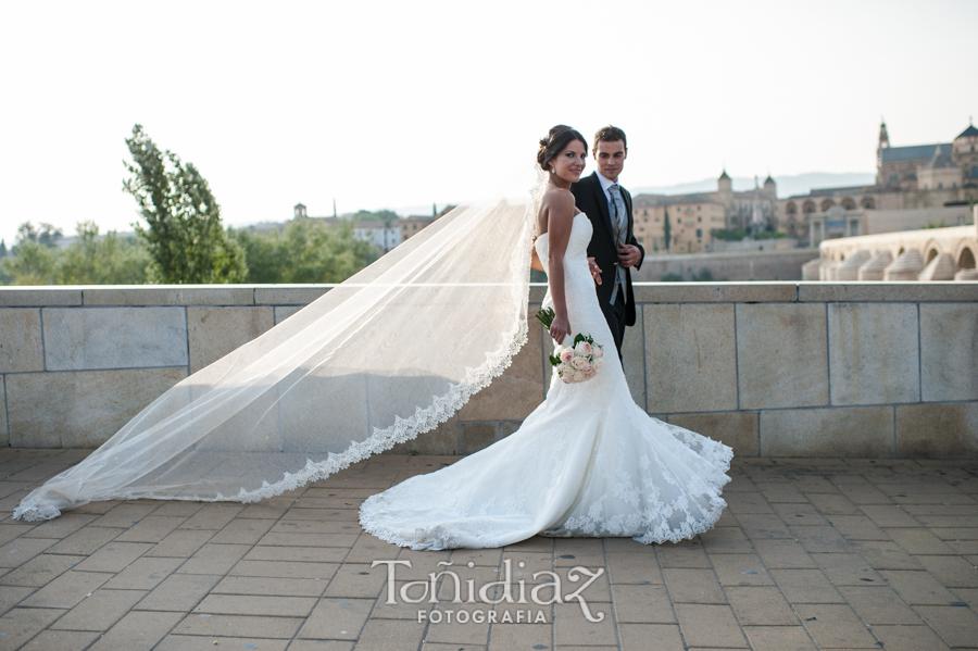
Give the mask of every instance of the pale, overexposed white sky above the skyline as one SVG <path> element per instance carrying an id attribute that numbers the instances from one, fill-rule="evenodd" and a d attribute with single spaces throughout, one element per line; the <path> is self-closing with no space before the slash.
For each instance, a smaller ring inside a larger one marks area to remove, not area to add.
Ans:
<path id="1" fill-rule="evenodd" d="M 490 196 L 557 123 L 624 128 L 626 187 L 873 172 L 881 115 L 894 146 L 978 117 L 976 28 L 975 0 L 0 0 L 0 237 L 131 229 L 136 123 L 235 226 Z"/>

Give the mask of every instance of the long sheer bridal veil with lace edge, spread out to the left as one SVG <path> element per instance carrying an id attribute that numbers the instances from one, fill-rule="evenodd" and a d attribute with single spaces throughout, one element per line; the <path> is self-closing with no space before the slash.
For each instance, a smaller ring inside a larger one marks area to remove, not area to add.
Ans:
<path id="1" fill-rule="evenodd" d="M 95 500 L 251 502 L 449 420 L 526 341 L 535 174 L 514 183 L 522 196 L 453 210 L 187 377 L 14 517 Z"/>

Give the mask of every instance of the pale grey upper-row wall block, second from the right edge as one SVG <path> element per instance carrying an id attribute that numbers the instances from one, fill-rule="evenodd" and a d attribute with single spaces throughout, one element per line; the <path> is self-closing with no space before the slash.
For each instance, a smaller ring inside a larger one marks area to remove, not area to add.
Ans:
<path id="1" fill-rule="evenodd" d="M 829 303 L 831 404 L 917 402 L 917 306 Z"/>

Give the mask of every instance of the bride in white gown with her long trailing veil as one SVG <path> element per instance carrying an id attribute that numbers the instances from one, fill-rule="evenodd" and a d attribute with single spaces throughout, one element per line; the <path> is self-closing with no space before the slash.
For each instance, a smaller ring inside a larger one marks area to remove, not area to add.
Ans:
<path id="1" fill-rule="evenodd" d="M 179 381 L 14 517 L 50 519 L 96 500 L 254 502 L 434 429 L 526 342 L 531 248 L 548 261 L 551 336 L 590 335 L 613 350 L 586 259 L 590 222 L 567 191 L 586 154 L 580 134 L 552 129 L 538 154 L 546 184 L 538 171 L 536 183 L 514 181 L 519 197 L 453 210 Z M 581 384 L 554 376 L 506 439 L 371 497 L 365 529 L 442 549 L 539 533 L 676 541 L 712 527 L 731 450 L 650 418 L 613 359 Z"/>

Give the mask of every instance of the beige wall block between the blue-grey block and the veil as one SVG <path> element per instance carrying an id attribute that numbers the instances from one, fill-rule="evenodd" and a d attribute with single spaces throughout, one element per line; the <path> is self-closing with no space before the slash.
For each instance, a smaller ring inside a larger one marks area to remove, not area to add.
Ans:
<path id="1" fill-rule="evenodd" d="M 196 373 L 275 325 L 273 308 L 187 308 L 190 372 Z"/>

